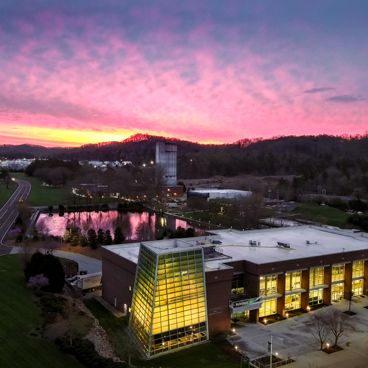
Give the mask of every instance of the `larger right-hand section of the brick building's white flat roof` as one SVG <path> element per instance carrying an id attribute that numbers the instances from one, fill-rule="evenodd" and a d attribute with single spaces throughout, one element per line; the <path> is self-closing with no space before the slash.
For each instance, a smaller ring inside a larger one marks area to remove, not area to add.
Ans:
<path id="1" fill-rule="evenodd" d="M 361 232 L 292 226 L 250 231 L 211 230 L 211 233 L 221 236 L 219 247 L 233 261 L 245 259 L 264 264 L 359 250 L 365 251 L 362 259 L 368 258 L 368 234 Z M 257 245 L 250 245 L 250 240 Z M 310 244 L 306 244 L 307 240 Z M 277 242 L 290 244 L 290 248 L 280 247 Z"/>

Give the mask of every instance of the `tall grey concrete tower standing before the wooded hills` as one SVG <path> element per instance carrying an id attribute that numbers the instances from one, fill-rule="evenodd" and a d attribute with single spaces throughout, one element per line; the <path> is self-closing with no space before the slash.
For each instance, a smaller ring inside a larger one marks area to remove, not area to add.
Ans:
<path id="1" fill-rule="evenodd" d="M 156 184 L 177 184 L 176 151 L 176 144 L 156 141 Z"/>

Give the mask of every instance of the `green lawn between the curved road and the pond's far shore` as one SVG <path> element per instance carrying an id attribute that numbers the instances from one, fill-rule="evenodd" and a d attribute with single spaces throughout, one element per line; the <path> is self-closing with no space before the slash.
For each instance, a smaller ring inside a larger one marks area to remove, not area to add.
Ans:
<path id="1" fill-rule="evenodd" d="M 63 206 L 72 205 L 68 203 L 68 195 L 71 192 L 70 187 L 52 188 L 42 186 L 42 180 L 35 178 L 33 176 L 27 176 L 23 173 L 14 173 L 13 176 L 18 179 L 28 181 L 32 185 L 31 193 L 27 199 L 29 206 L 39 207 L 39 206 Z M 89 202 L 89 201 L 88 201 Z M 115 203 L 116 198 L 91 198 L 91 204 L 103 204 L 103 203 Z M 81 205 L 86 204 L 86 198 L 81 197 Z M 77 203 L 79 205 L 79 203 Z"/>

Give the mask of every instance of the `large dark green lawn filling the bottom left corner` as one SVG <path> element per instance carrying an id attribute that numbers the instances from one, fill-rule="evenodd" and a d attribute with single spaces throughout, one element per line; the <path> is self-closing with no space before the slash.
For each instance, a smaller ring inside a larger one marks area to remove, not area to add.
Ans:
<path id="1" fill-rule="evenodd" d="M 83 368 L 51 340 L 27 337 L 42 323 L 17 254 L 0 257 L 0 367 Z"/>

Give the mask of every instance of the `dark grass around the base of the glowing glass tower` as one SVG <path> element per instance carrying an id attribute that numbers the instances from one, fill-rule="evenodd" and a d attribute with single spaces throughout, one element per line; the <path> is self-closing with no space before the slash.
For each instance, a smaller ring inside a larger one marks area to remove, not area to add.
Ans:
<path id="1" fill-rule="evenodd" d="M 127 317 L 117 318 L 94 298 L 85 299 L 84 304 L 100 321 L 112 342 L 116 341 L 119 332 L 126 328 Z M 119 352 L 118 352 L 119 354 Z M 122 357 L 121 357 L 122 358 Z M 239 363 L 231 360 L 212 343 L 204 343 L 173 353 L 162 355 L 149 361 L 132 359 L 132 364 L 139 367 L 171 367 L 171 368 L 238 368 Z"/>

